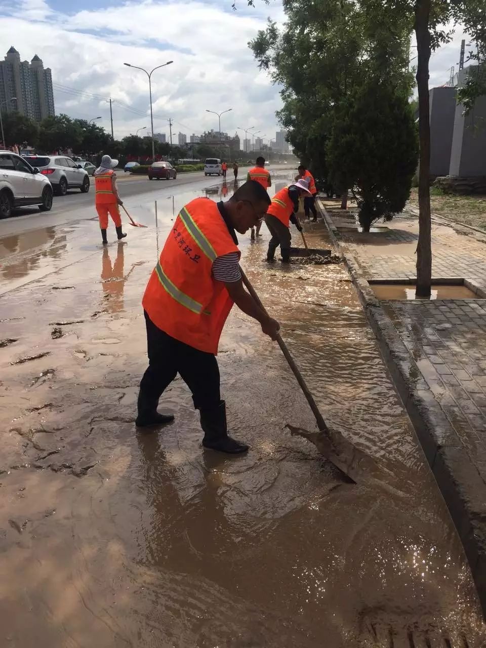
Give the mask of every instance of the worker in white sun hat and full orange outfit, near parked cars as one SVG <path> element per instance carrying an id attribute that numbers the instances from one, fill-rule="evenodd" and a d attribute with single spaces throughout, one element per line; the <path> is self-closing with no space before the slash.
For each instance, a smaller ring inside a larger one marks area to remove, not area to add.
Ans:
<path id="1" fill-rule="evenodd" d="M 126 237 L 126 234 L 122 232 L 121 216 L 118 207 L 123 203 L 118 192 L 117 176 L 113 171 L 113 168 L 117 165 L 118 160 L 113 160 L 110 156 L 103 156 L 100 166 L 93 173 L 95 178 L 95 207 L 100 220 L 103 245 L 108 243 L 108 239 L 106 238 L 108 214 L 110 214 L 111 220 L 115 223 L 118 240 Z"/>

